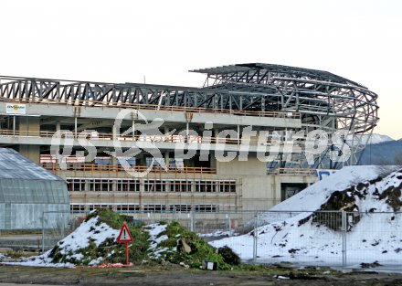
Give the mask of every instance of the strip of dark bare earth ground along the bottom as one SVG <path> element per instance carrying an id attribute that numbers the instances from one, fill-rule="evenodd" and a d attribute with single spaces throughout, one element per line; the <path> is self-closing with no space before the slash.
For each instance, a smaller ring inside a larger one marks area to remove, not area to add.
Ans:
<path id="1" fill-rule="evenodd" d="M 275 274 L 277 273 L 277 274 Z M 275 275 L 288 277 L 282 280 Z M 402 285 L 402 274 L 309 270 L 207 271 L 169 267 L 55 269 L 0 265 L 0 283 L 52 285 Z"/>

